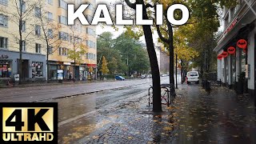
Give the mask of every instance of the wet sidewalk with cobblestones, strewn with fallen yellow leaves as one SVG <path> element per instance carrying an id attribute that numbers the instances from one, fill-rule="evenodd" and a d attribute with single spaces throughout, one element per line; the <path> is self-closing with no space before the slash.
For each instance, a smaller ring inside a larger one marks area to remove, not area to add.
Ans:
<path id="1" fill-rule="evenodd" d="M 152 113 L 145 96 L 118 109 L 103 110 L 94 115 L 94 125 L 84 122 L 59 142 L 256 143 L 256 110 L 248 96 L 224 87 L 214 87 L 210 95 L 198 85 L 180 88 L 173 106 L 164 107 L 162 113 Z M 92 132 L 81 138 L 79 134 L 87 129 Z"/>

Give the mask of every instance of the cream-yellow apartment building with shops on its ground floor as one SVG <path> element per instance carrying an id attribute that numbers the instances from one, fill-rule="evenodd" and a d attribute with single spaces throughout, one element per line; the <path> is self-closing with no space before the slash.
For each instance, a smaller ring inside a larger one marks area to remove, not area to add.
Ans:
<path id="1" fill-rule="evenodd" d="M 58 69 L 64 70 L 64 78 L 81 80 L 87 77 L 90 67 L 96 72 L 96 27 L 82 26 L 80 22 L 67 26 L 67 3 L 90 3 L 85 13 L 89 21 L 92 19 L 95 0 L 0 0 L 0 78 L 18 74 L 20 41 L 22 78 L 26 80 L 55 80 Z M 48 70 L 46 39 L 50 45 Z M 86 53 L 80 58 L 68 58 L 70 50 L 82 49 Z"/>

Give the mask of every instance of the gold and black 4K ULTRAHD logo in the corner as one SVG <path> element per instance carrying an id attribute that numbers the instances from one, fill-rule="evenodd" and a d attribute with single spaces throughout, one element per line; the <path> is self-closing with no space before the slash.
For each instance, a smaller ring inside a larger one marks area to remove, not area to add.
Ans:
<path id="1" fill-rule="evenodd" d="M 2 142 L 58 142 L 57 103 L 0 103 Z"/>

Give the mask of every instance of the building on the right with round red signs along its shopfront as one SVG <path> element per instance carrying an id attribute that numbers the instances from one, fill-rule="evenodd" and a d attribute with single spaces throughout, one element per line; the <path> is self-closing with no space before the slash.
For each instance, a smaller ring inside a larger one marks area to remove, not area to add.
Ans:
<path id="1" fill-rule="evenodd" d="M 218 79 L 238 94 L 251 96 L 255 95 L 255 10 L 256 0 L 240 0 L 236 7 L 224 7 L 224 31 L 214 49 L 218 52 Z"/>

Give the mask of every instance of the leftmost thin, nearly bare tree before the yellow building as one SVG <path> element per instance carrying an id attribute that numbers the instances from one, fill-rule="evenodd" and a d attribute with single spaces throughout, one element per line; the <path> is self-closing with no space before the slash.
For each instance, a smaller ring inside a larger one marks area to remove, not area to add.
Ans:
<path id="1" fill-rule="evenodd" d="M 22 75 L 22 44 L 23 42 L 33 42 L 33 37 L 30 37 L 34 32 L 34 26 L 37 23 L 36 17 L 40 15 L 35 10 L 39 0 L 24 1 L 24 0 L 9 0 L 8 6 L 0 5 L 0 12 L 8 17 L 8 20 L 12 22 L 16 27 L 14 30 L 4 30 L 5 33 L 11 34 L 14 40 L 18 43 L 19 60 L 18 60 L 18 74 L 20 75 L 19 82 L 23 80 Z M 35 13 L 34 13 L 35 12 Z M 27 26 L 26 26 L 27 25 Z"/>

